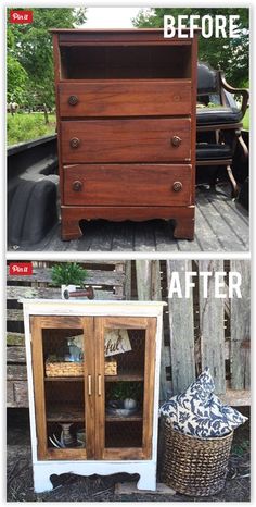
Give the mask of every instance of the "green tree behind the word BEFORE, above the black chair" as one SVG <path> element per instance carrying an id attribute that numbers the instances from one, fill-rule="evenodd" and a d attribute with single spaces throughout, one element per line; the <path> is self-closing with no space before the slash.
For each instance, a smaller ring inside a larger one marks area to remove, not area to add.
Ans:
<path id="1" fill-rule="evenodd" d="M 225 71 L 227 81 L 233 86 L 248 86 L 248 61 L 249 61 L 249 39 L 248 39 L 248 9 L 146 9 L 141 10 L 132 21 L 138 28 L 154 28 L 164 26 L 164 15 L 172 15 L 176 20 L 180 14 L 199 14 L 203 16 L 209 14 L 213 17 L 221 15 L 239 15 L 239 37 L 238 38 L 199 38 L 199 59 L 209 63 L 213 69 L 218 65 Z"/>

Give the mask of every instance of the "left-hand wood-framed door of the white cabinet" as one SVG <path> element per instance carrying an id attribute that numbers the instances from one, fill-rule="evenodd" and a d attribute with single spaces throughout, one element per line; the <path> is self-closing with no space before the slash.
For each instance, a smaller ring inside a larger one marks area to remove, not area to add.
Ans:
<path id="1" fill-rule="evenodd" d="M 39 459 L 87 459 L 94 453 L 93 319 L 31 318 Z"/>

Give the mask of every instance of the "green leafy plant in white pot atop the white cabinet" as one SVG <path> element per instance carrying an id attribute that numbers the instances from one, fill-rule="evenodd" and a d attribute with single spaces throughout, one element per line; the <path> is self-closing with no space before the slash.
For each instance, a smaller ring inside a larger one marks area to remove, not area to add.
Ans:
<path id="1" fill-rule="evenodd" d="M 93 299 L 93 288 L 85 287 L 85 280 L 87 276 L 87 271 L 76 262 L 61 262 L 60 264 L 54 264 L 51 270 L 52 284 L 61 286 L 63 299 L 79 296 Z M 79 287 L 81 287 L 81 289 L 77 290 Z"/>

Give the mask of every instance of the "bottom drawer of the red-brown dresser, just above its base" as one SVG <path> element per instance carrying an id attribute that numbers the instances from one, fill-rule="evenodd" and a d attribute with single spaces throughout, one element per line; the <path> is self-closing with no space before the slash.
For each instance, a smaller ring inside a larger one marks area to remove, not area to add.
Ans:
<path id="1" fill-rule="evenodd" d="M 64 166 L 64 205 L 184 206 L 191 203 L 192 166 L 111 164 Z"/>

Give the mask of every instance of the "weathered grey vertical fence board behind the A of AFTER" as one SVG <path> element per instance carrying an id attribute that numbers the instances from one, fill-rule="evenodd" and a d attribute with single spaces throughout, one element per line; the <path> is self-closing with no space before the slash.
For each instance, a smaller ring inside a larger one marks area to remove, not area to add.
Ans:
<path id="1" fill-rule="evenodd" d="M 171 273 L 177 271 L 182 294 L 184 294 L 184 273 L 193 271 L 192 262 L 167 260 L 166 264 L 167 286 L 170 285 Z M 195 380 L 193 298 L 178 298 L 174 294 L 174 297 L 168 299 L 168 307 L 172 394 L 178 394 Z"/>

